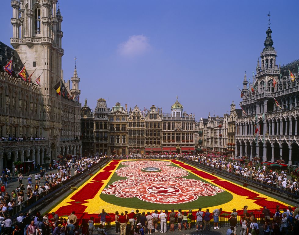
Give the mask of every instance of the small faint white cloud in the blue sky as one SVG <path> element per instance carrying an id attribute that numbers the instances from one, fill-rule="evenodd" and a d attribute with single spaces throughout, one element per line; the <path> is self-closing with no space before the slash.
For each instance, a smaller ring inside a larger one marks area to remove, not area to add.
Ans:
<path id="1" fill-rule="evenodd" d="M 128 41 L 118 45 L 118 52 L 124 56 L 141 55 L 149 51 L 149 39 L 144 35 L 130 36 Z"/>

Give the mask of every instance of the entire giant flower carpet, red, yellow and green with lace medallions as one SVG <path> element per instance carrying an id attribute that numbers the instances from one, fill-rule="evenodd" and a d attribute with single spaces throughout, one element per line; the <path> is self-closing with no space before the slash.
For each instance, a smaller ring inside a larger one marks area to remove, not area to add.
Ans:
<path id="1" fill-rule="evenodd" d="M 178 160 L 112 160 L 50 212 L 60 217 L 75 211 L 78 218 L 97 218 L 102 209 L 114 214 L 201 207 L 230 213 L 244 205 L 255 212 L 263 206 L 272 212 L 276 205 L 288 206 Z"/>

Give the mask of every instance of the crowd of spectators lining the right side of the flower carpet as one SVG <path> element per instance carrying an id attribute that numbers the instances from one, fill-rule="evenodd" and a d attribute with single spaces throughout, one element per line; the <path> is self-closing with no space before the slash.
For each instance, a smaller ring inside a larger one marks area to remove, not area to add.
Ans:
<path id="1" fill-rule="evenodd" d="M 265 164 L 254 162 L 252 164 L 242 163 L 232 157 L 214 154 L 182 155 L 182 158 L 198 162 L 205 166 L 210 166 L 228 173 L 236 174 L 247 179 L 255 180 L 265 185 L 287 190 L 294 194 L 299 194 L 297 179 L 288 178 L 286 172 L 281 169 L 271 169 Z"/>

